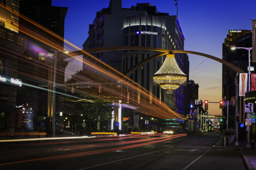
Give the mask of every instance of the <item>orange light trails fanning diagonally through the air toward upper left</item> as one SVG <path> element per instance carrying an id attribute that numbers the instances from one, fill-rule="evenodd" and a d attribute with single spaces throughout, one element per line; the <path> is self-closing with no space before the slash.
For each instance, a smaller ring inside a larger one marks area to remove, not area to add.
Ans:
<path id="1" fill-rule="evenodd" d="M 5 6 L 1 5 L 2 7 L 6 8 Z M 7 9 L 6 10 L 10 10 Z M 57 34 L 54 34 L 52 31 L 47 30 L 45 27 L 42 27 L 41 25 L 35 23 L 33 20 L 28 19 L 22 14 L 19 14 L 15 11 L 12 11 L 15 14 L 19 15 L 21 18 L 25 20 L 23 25 L 19 25 L 19 31 L 27 34 L 28 35 L 28 45 L 25 46 L 28 50 L 31 50 L 34 52 L 31 54 L 29 57 L 27 56 L 20 56 L 19 54 L 16 53 L 16 57 L 18 62 L 22 61 L 24 62 L 23 69 L 24 73 L 18 73 L 19 75 L 22 76 L 27 76 L 28 78 L 35 79 L 35 80 L 40 80 L 42 79 L 42 76 L 45 76 L 40 73 L 40 70 L 38 70 L 38 73 L 33 70 L 33 67 L 40 67 L 42 69 L 48 70 L 53 72 L 53 65 L 48 65 L 46 63 L 43 63 L 39 61 L 36 57 L 35 54 L 37 51 L 34 51 L 34 48 L 36 48 L 34 45 L 39 45 L 38 44 L 33 44 L 35 39 L 38 42 L 42 42 L 45 44 L 44 46 L 39 46 L 38 49 L 43 49 L 43 51 L 48 51 L 51 48 L 57 49 L 62 51 L 63 47 L 61 45 L 62 42 L 65 40 L 58 36 Z M 66 41 L 65 41 L 66 42 Z M 76 75 L 71 75 L 70 73 L 67 73 L 68 71 L 58 69 L 56 70 L 57 77 L 64 77 L 65 73 L 68 74 L 68 77 L 72 79 L 73 81 L 86 81 L 87 79 L 93 80 L 92 85 L 93 87 L 91 89 L 86 89 L 86 88 L 80 88 L 80 89 L 75 89 L 76 92 L 82 93 L 84 95 L 89 95 L 93 97 L 97 97 L 99 99 L 104 99 L 107 101 L 113 101 L 115 100 L 116 103 L 118 103 L 118 100 L 122 100 L 123 104 L 127 104 L 128 108 L 136 107 L 136 111 L 148 115 L 152 115 L 158 118 L 162 119 L 184 119 L 180 114 L 174 112 L 171 110 L 169 107 L 167 107 L 161 100 L 157 99 L 154 95 L 152 95 L 150 92 L 148 92 L 146 89 L 142 88 L 139 84 L 136 84 L 133 80 L 129 79 L 127 76 L 121 74 L 117 70 L 109 67 L 107 64 L 103 63 L 98 59 L 97 57 L 94 57 L 87 53 L 86 51 L 83 51 L 81 53 L 80 49 L 78 50 L 76 46 L 74 46 L 71 43 L 68 43 L 69 45 L 69 51 L 68 56 L 74 57 L 74 56 L 79 56 L 77 59 L 84 63 L 86 65 L 86 71 L 88 71 L 88 76 L 87 77 L 77 77 Z M 75 52 L 75 51 L 80 51 L 80 52 Z M 82 58 L 80 57 L 81 55 L 87 55 L 87 58 Z M 32 59 L 29 59 L 31 58 Z M 14 55 L 12 57 L 15 57 Z M 27 59 L 22 59 L 22 57 L 25 57 Z M 35 59 L 33 59 L 35 58 Z M 58 59 L 63 60 L 66 57 L 63 55 L 59 54 Z M 13 64 L 15 64 L 16 61 L 14 61 Z M 33 65 L 33 67 L 31 67 Z M 30 68 L 31 67 L 31 68 Z M 28 73 L 33 73 L 33 77 L 31 77 Z M 53 75 L 53 74 L 52 74 Z M 51 76 L 52 76 L 51 75 Z M 53 77 L 52 81 L 47 80 L 48 77 L 43 78 L 44 82 L 47 81 L 48 83 L 53 83 Z M 99 93 L 99 85 L 96 84 L 100 82 L 100 80 L 106 81 L 106 83 L 113 83 L 112 85 L 109 86 L 104 86 L 101 87 L 102 93 Z M 87 80 L 88 81 L 88 80 Z M 122 88 L 115 88 L 115 83 L 116 81 L 120 81 L 123 84 Z M 90 84 L 91 85 L 91 84 Z M 67 87 L 63 84 L 58 84 L 56 82 L 56 86 L 71 90 L 71 87 Z M 126 86 L 126 87 L 124 87 Z M 130 106 L 129 106 L 130 105 Z"/>

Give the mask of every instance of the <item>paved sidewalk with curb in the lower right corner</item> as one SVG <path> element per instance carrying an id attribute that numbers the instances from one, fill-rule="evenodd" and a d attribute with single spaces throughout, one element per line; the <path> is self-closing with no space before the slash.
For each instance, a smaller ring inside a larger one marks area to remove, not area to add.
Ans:
<path id="1" fill-rule="evenodd" d="M 252 140 L 252 139 L 251 139 Z M 255 139 L 254 139 L 255 141 Z M 256 142 L 255 142 L 256 144 Z M 256 170 L 256 148 L 246 148 L 247 141 L 238 141 L 238 145 L 235 145 L 235 141 L 228 144 L 228 146 L 221 146 L 219 141 L 214 145 L 213 149 L 235 149 L 240 150 L 243 156 L 244 164 L 247 170 Z M 250 145 L 251 146 L 251 145 Z"/>

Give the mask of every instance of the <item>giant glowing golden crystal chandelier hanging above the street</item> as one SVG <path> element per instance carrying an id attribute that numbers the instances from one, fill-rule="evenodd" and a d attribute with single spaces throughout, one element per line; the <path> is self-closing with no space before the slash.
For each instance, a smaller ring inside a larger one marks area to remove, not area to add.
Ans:
<path id="1" fill-rule="evenodd" d="M 162 67 L 153 76 L 154 83 L 160 85 L 168 94 L 173 93 L 180 85 L 187 80 L 185 75 L 179 68 L 173 54 L 166 55 L 166 59 Z"/>

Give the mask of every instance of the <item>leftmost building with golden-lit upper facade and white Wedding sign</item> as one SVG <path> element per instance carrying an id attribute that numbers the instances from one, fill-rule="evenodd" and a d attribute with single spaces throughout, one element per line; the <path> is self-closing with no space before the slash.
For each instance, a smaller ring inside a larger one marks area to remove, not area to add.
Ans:
<path id="1" fill-rule="evenodd" d="M 17 122 L 17 88 L 22 86 L 17 58 L 27 49 L 27 38 L 19 34 L 19 1 L 0 4 L 0 130 L 11 130 Z"/>

